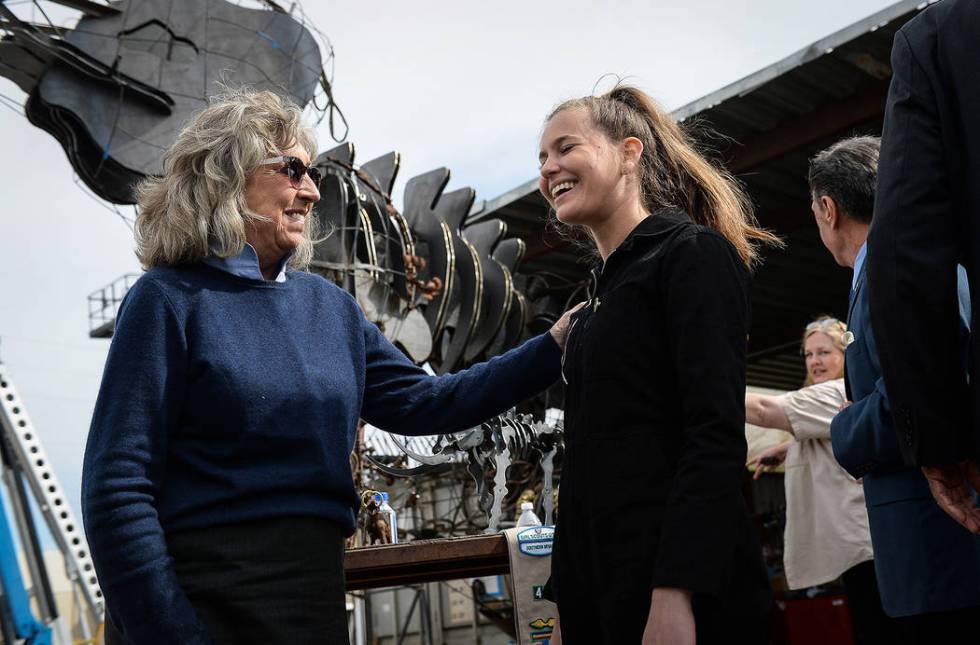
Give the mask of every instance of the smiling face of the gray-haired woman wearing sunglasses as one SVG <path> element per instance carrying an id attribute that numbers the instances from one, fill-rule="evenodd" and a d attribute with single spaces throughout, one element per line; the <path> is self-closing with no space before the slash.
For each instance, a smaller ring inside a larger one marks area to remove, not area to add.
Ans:
<path id="1" fill-rule="evenodd" d="M 283 153 L 310 163 L 309 153 L 299 144 Z M 255 248 L 259 264 L 278 262 L 303 242 L 303 228 L 320 193 L 309 175 L 298 185 L 282 172 L 283 164 L 259 166 L 245 184 L 245 204 L 249 211 L 269 218 L 253 220 L 245 230 L 245 239 Z"/>

